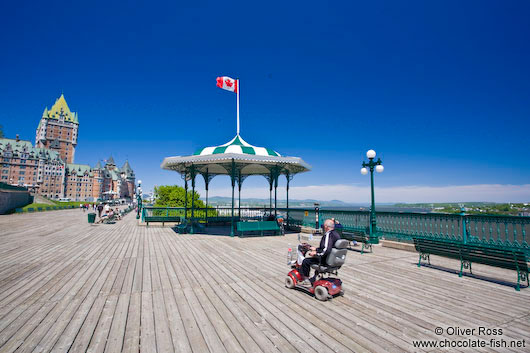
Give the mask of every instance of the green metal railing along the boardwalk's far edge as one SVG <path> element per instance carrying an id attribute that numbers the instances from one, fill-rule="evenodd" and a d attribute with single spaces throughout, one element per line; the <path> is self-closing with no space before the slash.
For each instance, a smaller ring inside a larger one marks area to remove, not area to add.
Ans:
<path id="1" fill-rule="evenodd" d="M 274 210 L 272 210 L 274 214 Z M 286 224 L 317 228 L 325 219 L 335 218 L 343 227 L 366 231 L 369 211 L 347 211 L 321 209 L 318 214 L 313 208 L 278 208 Z M 190 208 L 144 207 L 145 215 L 180 216 L 191 218 Z M 186 217 L 184 215 L 186 214 Z M 208 208 L 208 218 L 231 217 L 232 209 L 226 207 Z M 264 220 L 270 215 L 269 208 L 234 208 L 237 220 Z M 195 208 L 193 218 L 206 222 L 206 209 Z M 530 252 L 528 234 L 530 217 L 489 216 L 445 213 L 376 212 L 377 236 L 381 239 L 412 242 L 414 236 L 431 236 L 463 242 L 483 243 L 499 247 L 512 247 Z"/>

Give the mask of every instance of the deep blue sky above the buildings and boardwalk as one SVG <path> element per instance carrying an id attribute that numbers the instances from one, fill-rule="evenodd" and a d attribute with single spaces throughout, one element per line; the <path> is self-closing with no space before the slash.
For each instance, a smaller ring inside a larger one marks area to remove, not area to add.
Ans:
<path id="1" fill-rule="evenodd" d="M 128 158 L 145 190 L 182 183 L 164 157 L 235 135 L 235 95 L 215 86 L 227 75 L 241 79 L 242 137 L 313 166 L 295 197 L 368 201 L 359 169 L 373 148 L 381 202 L 530 201 L 529 13 L 527 1 L 3 2 L 0 124 L 33 141 L 62 91 L 79 113 L 76 163 Z M 211 185 L 225 195 L 229 182 Z M 265 179 L 245 186 L 267 196 Z"/>

